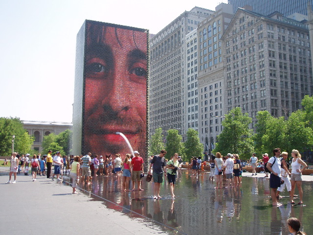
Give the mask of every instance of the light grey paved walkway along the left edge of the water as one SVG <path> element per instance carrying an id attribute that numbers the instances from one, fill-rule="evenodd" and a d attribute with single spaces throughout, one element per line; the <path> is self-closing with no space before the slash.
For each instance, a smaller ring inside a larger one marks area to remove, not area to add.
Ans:
<path id="1" fill-rule="evenodd" d="M 167 234 L 147 219 L 132 219 L 83 193 L 72 194 L 56 180 L 39 176 L 33 182 L 21 174 L 16 184 L 5 184 L 8 173 L 0 171 L 1 235 Z"/>

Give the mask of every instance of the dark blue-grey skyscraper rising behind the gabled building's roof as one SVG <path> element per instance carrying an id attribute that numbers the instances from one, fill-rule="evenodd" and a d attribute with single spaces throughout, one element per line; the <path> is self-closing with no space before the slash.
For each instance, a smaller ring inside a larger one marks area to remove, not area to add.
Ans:
<path id="1" fill-rule="evenodd" d="M 313 0 L 310 0 L 313 4 Z M 263 15 L 269 15 L 275 11 L 284 16 L 300 13 L 308 15 L 308 0 L 228 0 L 233 5 L 234 12 L 238 7 L 252 6 L 253 11 Z"/>

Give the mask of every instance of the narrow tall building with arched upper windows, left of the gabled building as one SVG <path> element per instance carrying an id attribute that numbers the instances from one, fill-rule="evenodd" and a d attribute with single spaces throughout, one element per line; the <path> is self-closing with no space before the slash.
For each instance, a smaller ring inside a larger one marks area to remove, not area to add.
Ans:
<path id="1" fill-rule="evenodd" d="M 204 145 L 205 158 L 222 131 L 221 122 L 225 114 L 222 36 L 234 16 L 231 4 L 221 3 L 215 10 L 198 25 L 197 30 L 199 137 Z"/>

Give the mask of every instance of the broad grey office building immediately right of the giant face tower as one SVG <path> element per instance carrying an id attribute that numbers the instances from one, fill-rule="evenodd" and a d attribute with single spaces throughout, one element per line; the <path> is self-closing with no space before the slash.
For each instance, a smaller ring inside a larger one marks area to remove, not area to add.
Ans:
<path id="1" fill-rule="evenodd" d="M 183 81 L 185 35 L 214 11 L 194 7 L 150 39 L 149 135 L 161 127 L 179 130 L 185 141 Z M 194 51 L 194 56 L 197 51 Z"/>

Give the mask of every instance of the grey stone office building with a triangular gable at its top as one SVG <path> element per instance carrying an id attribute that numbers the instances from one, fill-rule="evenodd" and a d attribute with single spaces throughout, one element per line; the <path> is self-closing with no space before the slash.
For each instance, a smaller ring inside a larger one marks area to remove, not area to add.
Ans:
<path id="1" fill-rule="evenodd" d="M 277 12 L 238 9 L 224 35 L 225 108 L 288 117 L 313 94 L 309 30 Z"/>

